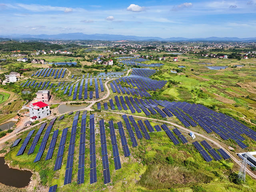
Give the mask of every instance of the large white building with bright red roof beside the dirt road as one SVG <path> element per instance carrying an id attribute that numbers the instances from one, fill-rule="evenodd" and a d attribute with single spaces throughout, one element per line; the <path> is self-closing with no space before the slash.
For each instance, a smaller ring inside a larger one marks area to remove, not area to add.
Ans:
<path id="1" fill-rule="evenodd" d="M 30 121 L 46 118 L 50 115 L 50 106 L 42 101 L 29 105 Z"/>

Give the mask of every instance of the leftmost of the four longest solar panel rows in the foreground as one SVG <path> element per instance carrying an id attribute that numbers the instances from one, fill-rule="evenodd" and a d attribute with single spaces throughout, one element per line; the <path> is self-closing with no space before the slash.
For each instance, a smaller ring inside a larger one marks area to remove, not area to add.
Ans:
<path id="1" fill-rule="evenodd" d="M 74 161 L 74 150 L 75 150 L 75 142 L 76 142 L 76 127 L 78 123 L 80 111 L 77 111 L 71 129 L 71 136 L 69 141 L 69 148 L 68 148 L 68 160 L 66 164 L 66 172 L 64 178 L 64 185 L 71 183 L 72 180 L 72 171 L 73 171 L 73 161 Z"/>

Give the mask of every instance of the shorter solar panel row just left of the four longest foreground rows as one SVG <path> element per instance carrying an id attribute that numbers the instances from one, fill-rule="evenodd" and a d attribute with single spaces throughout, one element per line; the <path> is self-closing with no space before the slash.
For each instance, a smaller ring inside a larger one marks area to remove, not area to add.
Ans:
<path id="1" fill-rule="evenodd" d="M 59 170 L 61 168 L 67 133 L 68 133 L 68 128 L 64 128 L 62 130 L 62 135 L 60 138 L 60 144 L 59 144 L 57 158 L 54 165 L 54 171 Z"/>

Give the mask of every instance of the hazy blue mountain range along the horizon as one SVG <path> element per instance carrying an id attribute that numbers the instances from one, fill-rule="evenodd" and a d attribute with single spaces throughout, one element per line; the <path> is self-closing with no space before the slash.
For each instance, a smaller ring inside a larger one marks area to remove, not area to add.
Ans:
<path id="1" fill-rule="evenodd" d="M 107 41 L 256 41 L 254 38 L 237 38 L 237 37 L 208 37 L 208 38 L 183 38 L 183 37 L 141 37 L 141 36 L 126 36 L 126 35 L 112 35 L 112 34 L 84 34 L 84 33 L 62 33 L 56 35 L 9 35 L 1 36 L 1 38 L 9 39 L 27 39 L 27 40 L 107 40 Z"/>

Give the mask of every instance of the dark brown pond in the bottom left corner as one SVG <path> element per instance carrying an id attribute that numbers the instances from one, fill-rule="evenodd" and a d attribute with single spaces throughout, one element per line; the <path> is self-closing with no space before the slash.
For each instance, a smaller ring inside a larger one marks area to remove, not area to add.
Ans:
<path id="1" fill-rule="evenodd" d="M 7 164 L 4 164 L 4 157 L 0 157 L 0 183 L 14 186 L 17 188 L 23 188 L 28 186 L 32 172 L 26 170 L 18 170 L 9 168 Z"/>

